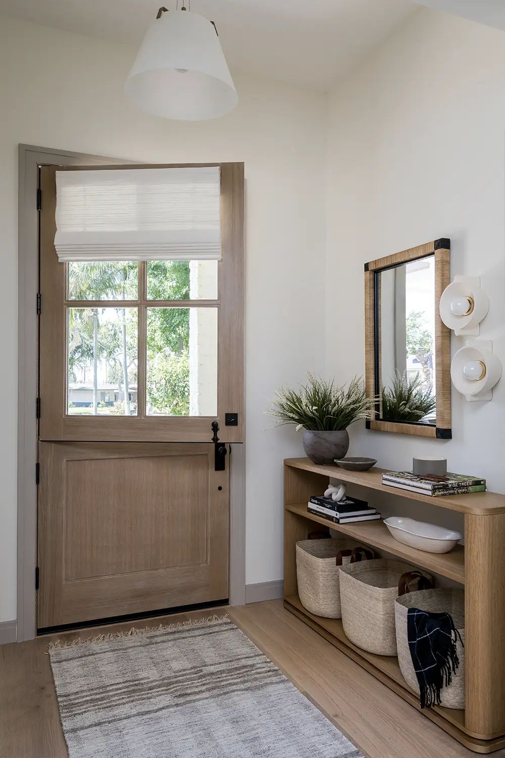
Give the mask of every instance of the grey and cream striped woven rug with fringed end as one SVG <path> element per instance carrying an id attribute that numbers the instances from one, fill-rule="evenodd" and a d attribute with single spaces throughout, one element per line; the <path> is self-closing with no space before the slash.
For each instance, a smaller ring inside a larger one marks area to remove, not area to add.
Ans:
<path id="1" fill-rule="evenodd" d="M 227 618 L 49 655 L 70 758 L 363 758 Z"/>

